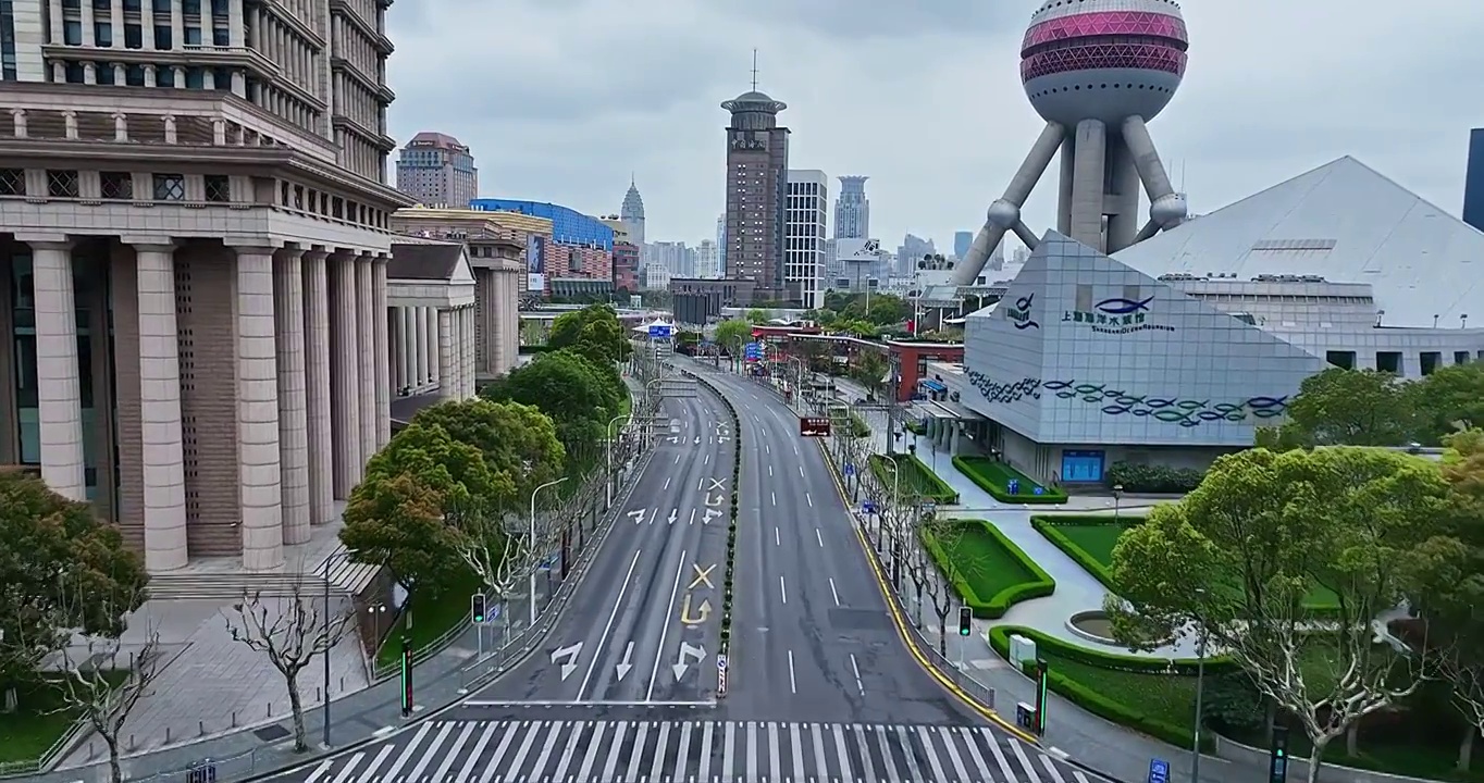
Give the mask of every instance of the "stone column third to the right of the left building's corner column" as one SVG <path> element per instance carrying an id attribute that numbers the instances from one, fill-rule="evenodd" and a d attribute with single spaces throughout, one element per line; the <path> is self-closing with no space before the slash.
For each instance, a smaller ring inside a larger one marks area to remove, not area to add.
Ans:
<path id="1" fill-rule="evenodd" d="M 329 260 L 331 383 L 329 408 L 334 415 L 335 497 L 349 498 L 361 483 L 361 353 L 356 331 L 356 257 L 335 254 Z"/>

